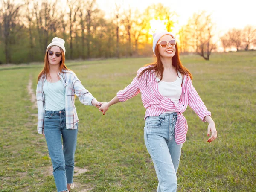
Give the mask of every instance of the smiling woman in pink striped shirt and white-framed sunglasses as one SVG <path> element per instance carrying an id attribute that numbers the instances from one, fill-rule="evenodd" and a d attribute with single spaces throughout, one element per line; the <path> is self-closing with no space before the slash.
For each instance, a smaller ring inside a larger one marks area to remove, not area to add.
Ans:
<path id="1" fill-rule="evenodd" d="M 157 192 L 177 191 L 177 169 L 188 125 L 183 112 L 189 105 L 203 122 L 208 122 L 208 142 L 217 138 L 215 123 L 192 85 L 192 75 L 183 67 L 176 40 L 163 31 L 153 35 L 153 52 L 157 61 L 138 70 L 131 84 L 117 93 L 99 111 L 141 93 L 145 113 L 144 140 L 158 178 Z"/>

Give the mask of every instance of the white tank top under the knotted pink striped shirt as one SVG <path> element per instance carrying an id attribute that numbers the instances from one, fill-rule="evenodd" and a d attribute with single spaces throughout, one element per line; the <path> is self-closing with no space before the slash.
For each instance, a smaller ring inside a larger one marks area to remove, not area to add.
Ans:
<path id="1" fill-rule="evenodd" d="M 157 81 L 160 79 L 157 77 Z M 158 91 L 166 98 L 171 99 L 174 102 L 179 102 L 181 96 L 181 84 L 182 84 L 182 76 L 178 71 L 178 77 L 173 82 L 164 82 L 160 81 L 158 84 Z M 173 113 L 174 111 L 166 111 L 165 113 Z"/>

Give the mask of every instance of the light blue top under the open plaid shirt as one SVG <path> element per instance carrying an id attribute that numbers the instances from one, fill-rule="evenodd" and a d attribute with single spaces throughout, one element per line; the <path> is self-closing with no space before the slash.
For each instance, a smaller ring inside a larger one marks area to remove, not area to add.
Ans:
<path id="1" fill-rule="evenodd" d="M 45 110 L 47 111 L 59 111 L 65 109 L 65 87 L 61 80 L 50 83 L 47 80 L 44 81 L 43 86 Z"/>

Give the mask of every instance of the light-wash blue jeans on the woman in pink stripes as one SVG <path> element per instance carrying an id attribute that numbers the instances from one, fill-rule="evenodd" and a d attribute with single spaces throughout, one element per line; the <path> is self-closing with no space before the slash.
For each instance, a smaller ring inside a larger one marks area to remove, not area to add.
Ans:
<path id="1" fill-rule="evenodd" d="M 174 139 L 177 113 L 148 116 L 145 121 L 144 140 L 157 173 L 157 192 L 177 191 L 177 170 L 181 145 Z"/>

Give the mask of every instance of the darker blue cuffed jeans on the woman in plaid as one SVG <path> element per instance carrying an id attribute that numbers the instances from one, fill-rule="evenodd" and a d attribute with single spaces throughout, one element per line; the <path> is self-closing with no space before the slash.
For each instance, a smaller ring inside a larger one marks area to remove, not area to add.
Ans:
<path id="1" fill-rule="evenodd" d="M 73 183 L 77 131 L 66 128 L 65 109 L 45 111 L 44 134 L 58 192 L 67 190 L 67 184 Z"/>

